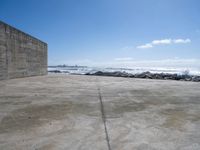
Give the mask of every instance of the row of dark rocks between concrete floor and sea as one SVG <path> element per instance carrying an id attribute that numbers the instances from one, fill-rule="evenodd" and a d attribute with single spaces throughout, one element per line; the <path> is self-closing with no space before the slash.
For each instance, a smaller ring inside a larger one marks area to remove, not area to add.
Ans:
<path id="1" fill-rule="evenodd" d="M 118 72 L 118 71 L 116 72 L 97 71 L 95 73 L 86 73 L 85 75 L 200 82 L 200 76 L 188 75 L 188 74 L 179 75 L 179 74 L 151 73 L 151 72 L 131 74 L 127 72 Z"/>

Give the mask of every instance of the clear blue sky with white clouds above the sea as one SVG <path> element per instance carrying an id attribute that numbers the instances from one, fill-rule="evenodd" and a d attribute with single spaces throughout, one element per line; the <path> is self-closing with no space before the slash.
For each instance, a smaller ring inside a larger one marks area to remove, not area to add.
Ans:
<path id="1" fill-rule="evenodd" d="M 1 0 L 0 20 L 48 43 L 49 65 L 200 64 L 199 0 Z"/>

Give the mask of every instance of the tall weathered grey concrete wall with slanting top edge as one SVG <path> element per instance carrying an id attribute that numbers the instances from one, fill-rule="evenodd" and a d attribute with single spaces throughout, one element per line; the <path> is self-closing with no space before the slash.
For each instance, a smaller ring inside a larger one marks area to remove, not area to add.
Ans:
<path id="1" fill-rule="evenodd" d="M 47 44 L 0 21 L 0 80 L 47 74 Z"/>

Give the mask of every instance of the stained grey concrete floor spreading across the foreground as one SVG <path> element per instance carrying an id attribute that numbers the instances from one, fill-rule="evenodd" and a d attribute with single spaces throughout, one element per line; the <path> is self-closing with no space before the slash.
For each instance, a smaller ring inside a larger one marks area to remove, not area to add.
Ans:
<path id="1" fill-rule="evenodd" d="M 0 149 L 199 150 L 200 83 L 48 75 L 0 81 Z"/>

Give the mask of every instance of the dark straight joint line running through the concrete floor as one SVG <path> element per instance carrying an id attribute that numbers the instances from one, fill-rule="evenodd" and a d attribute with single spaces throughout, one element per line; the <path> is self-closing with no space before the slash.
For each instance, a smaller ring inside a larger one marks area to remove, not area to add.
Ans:
<path id="1" fill-rule="evenodd" d="M 107 130 L 107 125 L 106 125 L 106 115 L 105 115 L 105 111 L 104 111 L 104 105 L 103 105 L 101 90 L 100 90 L 99 86 L 98 86 L 98 95 L 99 95 L 99 101 L 100 101 L 100 106 L 101 106 L 101 116 L 102 116 L 102 120 L 103 120 L 103 124 L 104 124 L 107 146 L 108 146 L 108 150 L 111 150 L 110 139 L 108 136 L 108 130 Z"/>

